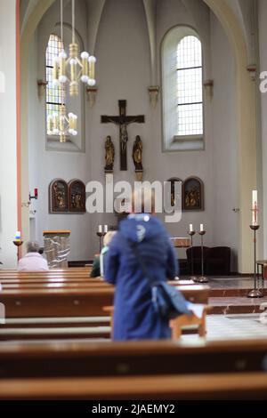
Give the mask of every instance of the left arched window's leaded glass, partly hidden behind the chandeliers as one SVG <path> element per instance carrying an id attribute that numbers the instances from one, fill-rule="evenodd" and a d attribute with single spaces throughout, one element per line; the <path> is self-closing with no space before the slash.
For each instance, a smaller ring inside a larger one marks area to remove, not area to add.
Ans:
<path id="1" fill-rule="evenodd" d="M 46 118 L 54 113 L 60 113 L 60 105 L 65 104 L 65 92 L 60 85 L 53 85 L 53 60 L 64 49 L 60 36 L 50 35 L 46 48 Z M 46 124 L 47 126 L 47 124 Z"/>

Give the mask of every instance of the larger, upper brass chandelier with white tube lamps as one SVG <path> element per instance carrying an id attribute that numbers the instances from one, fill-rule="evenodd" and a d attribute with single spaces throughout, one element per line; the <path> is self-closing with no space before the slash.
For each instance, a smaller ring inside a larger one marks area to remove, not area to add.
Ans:
<path id="1" fill-rule="evenodd" d="M 61 0 L 61 38 L 63 36 L 63 0 Z M 53 62 L 53 84 L 65 84 L 69 81 L 69 95 L 78 95 L 78 84 L 81 81 L 91 87 L 95 85 L 96 59 L 88 52 L 79 57 L 79 47 L 75 38 L 75 0 L 72 0 L 72 42 L 69 44 L 69 58 L 63 50 Z"/>

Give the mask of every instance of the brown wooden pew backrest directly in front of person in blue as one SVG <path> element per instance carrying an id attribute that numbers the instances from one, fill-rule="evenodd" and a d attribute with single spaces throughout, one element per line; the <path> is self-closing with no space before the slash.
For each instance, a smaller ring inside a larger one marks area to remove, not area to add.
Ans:
<path id="1" fill-rule="evenodd" d="M 209 286 L 180 285 L 179 290 L 192 302 L 207 304 Z M 6 318 L 88 317 L 101 316 L 102 307 L 113 303 L 112 286 L 59 289 L 3 290 Z"/>

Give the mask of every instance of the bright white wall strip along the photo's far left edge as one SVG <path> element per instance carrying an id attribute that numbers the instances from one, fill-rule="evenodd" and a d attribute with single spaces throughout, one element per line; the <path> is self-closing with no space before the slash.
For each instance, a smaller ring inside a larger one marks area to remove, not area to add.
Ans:
<path id="1" fill-rule="evenodd" d="M 0 2 L 0 261 L 14 267 L 17 229 L 16 1 Z"/>

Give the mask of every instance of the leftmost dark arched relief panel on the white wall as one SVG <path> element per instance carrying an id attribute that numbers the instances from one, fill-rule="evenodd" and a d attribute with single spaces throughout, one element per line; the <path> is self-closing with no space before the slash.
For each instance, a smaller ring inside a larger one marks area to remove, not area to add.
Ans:
<path id="1" fill-rule="evenodd" d="M 62 179 L 55 179 L 49 185 L 49 212 L 66 213 L 68 210 L 68 184 Z"/>

